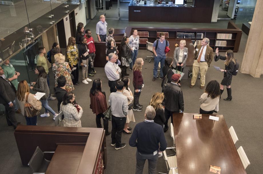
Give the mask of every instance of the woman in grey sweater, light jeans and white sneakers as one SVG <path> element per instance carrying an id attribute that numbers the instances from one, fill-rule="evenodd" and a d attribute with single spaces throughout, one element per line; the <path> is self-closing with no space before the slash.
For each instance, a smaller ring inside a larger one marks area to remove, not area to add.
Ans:
<path id="1" fill-rule="evenodd" d="M 51 112 L 53 114 L 53 120 L 55 120 L 55 116 L 57 116 L 57 114 L 51 107 L 49 107 L 47 102 L 47 98 L 50 94 L 49 87 L 47 85 L 47 73 L 43 66 L 36 66 L 35 74 L 38 74 L 37 82 L 32 82 L 34 87 L 31 86 L 30 89 L 36 92 L 45 93 L 45 95 L 40 99 L 42 107 L 45 108 L 45 113 L 40 116 L 49 117 L 49 112 Z"/>

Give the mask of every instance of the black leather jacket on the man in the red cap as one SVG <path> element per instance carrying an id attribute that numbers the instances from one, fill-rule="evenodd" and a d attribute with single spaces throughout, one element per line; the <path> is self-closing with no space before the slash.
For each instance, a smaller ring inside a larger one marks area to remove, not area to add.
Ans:
<path id="1" fill-rule="evenodd" d="M 184 97 L 182 89 L 176 83 L 166 83 L 163 87 L 164 107 L 172 112 L 184 111 Z"/>

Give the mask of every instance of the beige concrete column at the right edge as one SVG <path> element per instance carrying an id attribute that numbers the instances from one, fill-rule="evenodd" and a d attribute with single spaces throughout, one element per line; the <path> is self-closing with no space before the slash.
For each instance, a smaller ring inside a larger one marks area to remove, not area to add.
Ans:
<path id="1" fill-rule="evenodd" d="M 257 1 L 244 57 L 241 73 L 260 77 L 263 74 L 263 1 Z"/>

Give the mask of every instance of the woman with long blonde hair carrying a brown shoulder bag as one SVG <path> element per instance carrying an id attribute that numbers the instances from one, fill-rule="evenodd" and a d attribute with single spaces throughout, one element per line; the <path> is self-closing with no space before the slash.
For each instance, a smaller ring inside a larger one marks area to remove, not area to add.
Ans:
<path id="1" fill-rule="evenodd" d="M 27 95 L 28 95 L 28 98 L 27 98 Z M 17 89 L 17 99 L 18 99 L 18 103 L 20 106 L 25 106 L 26 98 L 29 104 L 37 102 L 37 99 L 34 97 L 34 95 L 29 93 L 29 86 L 27 84 L 27 81 L 23 80 L 19 82 L 18 89 Z M 39 105 L 35 109 L 40 110 L 41 105 Z M 25 107 L 22 107 L 21 110 L 22 110 L 21 112 L 22 115 L 25 116 Z M 27 125 L 31 125 L 31 126 L 37 125 L 37 115 L 32 116 L 32 117 L 25 116 L 25 120 L 27 122 Z"/>

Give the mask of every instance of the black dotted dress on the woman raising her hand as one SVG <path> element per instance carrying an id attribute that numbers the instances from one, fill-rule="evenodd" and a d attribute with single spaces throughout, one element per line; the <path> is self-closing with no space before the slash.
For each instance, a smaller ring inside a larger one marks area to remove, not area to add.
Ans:
<path id="1" fill-rule="evenodd" d="M 218 61 L 219 59 L 226 60 L 226 57 L 225 56 L 221 56 L 220 54 L 218 54 L 218 56 L 214 57 L 215 62 Z M 224 85 L 224 86 L 231 85 L 232 73 L 234 71 L 234 66 L 235 66 L 235 63 L 233 61 L 230 61 L 228 63 L 228 65 L 225 65 L 226 72 L 224 72 L 224 78 L 221 81 L 221 85 Z"/>

